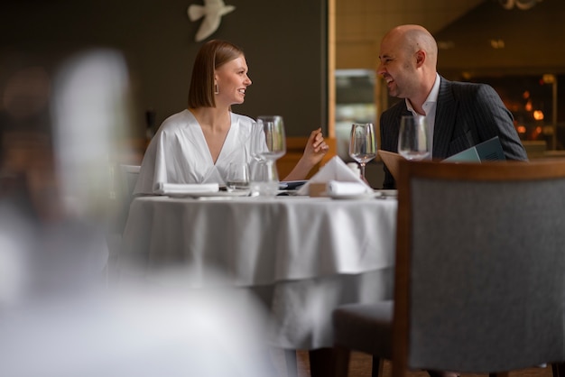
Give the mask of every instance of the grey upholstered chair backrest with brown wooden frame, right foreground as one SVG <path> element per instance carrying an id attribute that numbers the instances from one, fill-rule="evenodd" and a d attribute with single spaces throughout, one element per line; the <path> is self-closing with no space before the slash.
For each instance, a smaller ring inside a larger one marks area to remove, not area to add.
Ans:
<path id="1" fill-rule="evenodd" d="M 394 376 L 565 360 L 565 161 L 401 161 Z"/>

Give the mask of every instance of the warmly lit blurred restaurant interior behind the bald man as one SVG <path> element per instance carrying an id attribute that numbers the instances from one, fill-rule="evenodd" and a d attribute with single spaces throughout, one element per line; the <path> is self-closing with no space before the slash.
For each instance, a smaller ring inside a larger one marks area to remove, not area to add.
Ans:
<path id="1" fill-rule="evenodd" d="M 347 128 L 354 120 L 371 120 L 369 115 L 378 123 L 380 112 L 396 101 L 387 96 L 382 80 L 374 78 L 378 46 L 394 25 L 420 23 L 438 41 L 442 76 L 491 84 L 512 111 L 529 156 L 562 155 L 565 53 L 559 41 L 565 36 L 564 2 L 337 0 L 336 5 L 336 68 L 365 69 L 353 71 L 362 78 L 336 81 L 338 132 L 340 124 Z M 353 83 L 366 93 L 360 102 L 339 96 L 341 86 L 343 93 L 359 93 L 346 86 Z M 367 167 L 376 185 L 382 182 L 381 168 L 378 161 Z"/>

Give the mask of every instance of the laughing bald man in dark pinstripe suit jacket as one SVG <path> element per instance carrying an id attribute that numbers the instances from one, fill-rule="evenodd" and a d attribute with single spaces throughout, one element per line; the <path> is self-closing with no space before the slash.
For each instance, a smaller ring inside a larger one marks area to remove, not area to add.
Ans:
<path id="1" fill-rule="evenodd" d="M 438 46 L 419 25 L 401 25 L 384 35 L 377 73 L 391 96 L 404 98 L 381 115 L 381 149 L 397 152 L 403 115 L 425 115 L 431 158 L 445 159 L 498 136 L 507 160 L 527 161 L 514 118 L 485 84 L 454 82 L 437 73 Z M 384 167 L 384 189 L 396 186 Z"/>

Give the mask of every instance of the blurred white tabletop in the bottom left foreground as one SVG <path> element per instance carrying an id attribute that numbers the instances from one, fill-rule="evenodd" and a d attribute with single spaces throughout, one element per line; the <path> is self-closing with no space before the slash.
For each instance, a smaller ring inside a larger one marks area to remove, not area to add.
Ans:
<path id="1" fill-rule="evenodd" d="M 0 375 L 275 376 L 264 308 L 235 287 L 191 289 L 190 273 L 0 312 Z"/>

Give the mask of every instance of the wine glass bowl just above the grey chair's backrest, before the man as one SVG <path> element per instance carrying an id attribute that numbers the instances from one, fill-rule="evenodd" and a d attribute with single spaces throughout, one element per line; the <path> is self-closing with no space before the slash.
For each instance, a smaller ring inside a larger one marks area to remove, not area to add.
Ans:
<path id="1" fill-rule="evenodd" d="M 426 118 L 422 115 L 404 115 L 400 121 L 398 152 L 406 159 L 419 161 L 430 154 L 428 150 Z"/>

